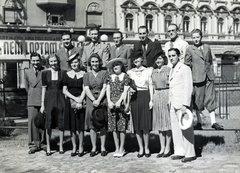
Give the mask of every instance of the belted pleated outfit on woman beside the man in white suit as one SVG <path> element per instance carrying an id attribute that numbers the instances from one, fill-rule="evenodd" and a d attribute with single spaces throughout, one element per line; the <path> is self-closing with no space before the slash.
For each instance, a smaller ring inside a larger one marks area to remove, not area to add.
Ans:
<path id="1" fill-rule="evenodd" d="M 171 68 L 163 66 L 160 71 L 154 69 L 152 80 L 154 85 L 153 95 L 153 130 L 167 131 L 171 130 L 171 119 L 169 112 L 169 87 L 168 79 Z"/>

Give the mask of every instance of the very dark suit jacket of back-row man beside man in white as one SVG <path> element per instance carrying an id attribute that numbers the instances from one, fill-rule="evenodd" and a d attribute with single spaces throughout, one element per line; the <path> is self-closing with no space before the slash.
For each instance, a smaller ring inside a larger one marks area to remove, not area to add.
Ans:
<path id="1" fill-rule="evenodd" d="M 148 39 L 148 46 L 146 50 L 146 57 L 147 57 L 147 67 L 152 67 L 154 65 L 154 55 L 156 53 L 156 50 L 162 50 L 161 43 L 159 41 L 152 41 L 149 38 Z M 142 50 L 142 43 L 139 41 L 134 44 L 133 51 Z"/>

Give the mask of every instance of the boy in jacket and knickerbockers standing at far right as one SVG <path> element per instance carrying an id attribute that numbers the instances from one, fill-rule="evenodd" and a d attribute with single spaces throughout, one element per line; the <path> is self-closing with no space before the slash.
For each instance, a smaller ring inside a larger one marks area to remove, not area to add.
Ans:
<path id="1" fill-rule="evenodd" d="M 187 48 L 184 63 L 192 69 L 193 109 L 196 110 L 198 120 L 194 129 L 202 130 L 201 114 L 206 107 L 210 113 L 212 128 L 223 130 L 223 126 L 216 123 L 215 119 L 217 104 L 210 46 L 202 43 L 202 31 L 200 29 L 194 29 L 191 36 L 194 45 Z"/>

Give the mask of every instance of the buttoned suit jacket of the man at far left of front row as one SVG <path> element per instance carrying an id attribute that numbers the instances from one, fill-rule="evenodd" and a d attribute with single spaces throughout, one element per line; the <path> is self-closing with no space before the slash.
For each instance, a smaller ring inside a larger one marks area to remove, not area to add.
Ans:
<path id="1" fill-rule="evenodd" d="M 28 94 L 27 106 L 41 106 L 43 70 L 44 67 L 41 67 L 37 76 L 35 76 L 35 71 L 32 66 L 25 71 L 25 89 Z"/>

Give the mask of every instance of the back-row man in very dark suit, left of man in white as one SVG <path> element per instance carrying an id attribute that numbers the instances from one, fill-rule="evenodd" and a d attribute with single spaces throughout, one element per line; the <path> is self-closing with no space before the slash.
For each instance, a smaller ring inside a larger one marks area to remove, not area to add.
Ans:
<path id="1" fill-rule="evenodd" d="M 140 41 L 135 43 L 133 51 L 143 51 L 143 65 L 146 67 L 152 67 L 154 65 L 154 55 L 156 50 L 162 50 L 161 43 L 157 40 L 154 42 L 148 38 L 148 29 L 146 26 L 140 26 L 138 28 L 138 34 Z"/>

